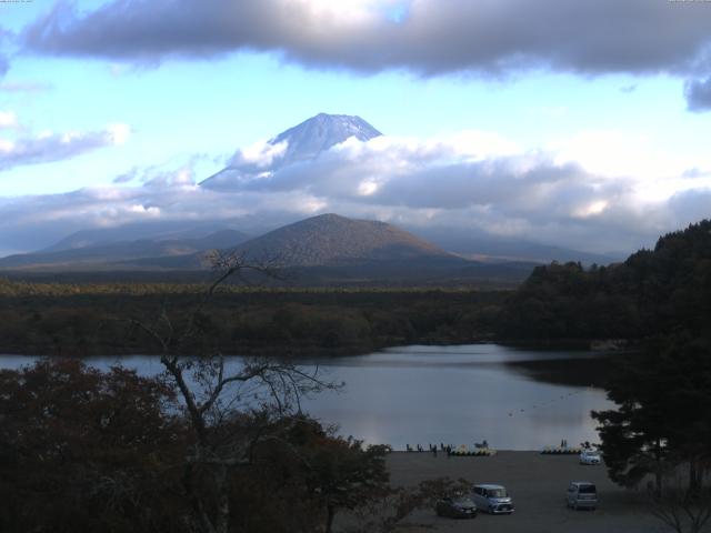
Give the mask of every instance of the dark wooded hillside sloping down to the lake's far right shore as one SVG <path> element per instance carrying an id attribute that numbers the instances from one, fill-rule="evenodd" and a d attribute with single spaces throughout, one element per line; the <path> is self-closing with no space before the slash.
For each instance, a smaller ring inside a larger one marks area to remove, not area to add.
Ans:
<path id="1" fill-rule="evenodd" d="M 642 340 L 711 328 L 711 221 L 659 239 L 620 264 L 538 266 L 508 299 L 497 333 L 520 340 Z"/>

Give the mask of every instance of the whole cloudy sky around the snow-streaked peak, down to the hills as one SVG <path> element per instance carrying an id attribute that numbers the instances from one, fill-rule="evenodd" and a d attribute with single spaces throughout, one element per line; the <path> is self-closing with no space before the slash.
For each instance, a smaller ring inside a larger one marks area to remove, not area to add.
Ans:
<path id="1" fill-rule="evenodd" d="M 650 247 L 711 214 L 710 28 L 689 0 L 0 0 L 0 255 L 323 212 Z M 320 112 L 384 135 L 199 185 Z"/>

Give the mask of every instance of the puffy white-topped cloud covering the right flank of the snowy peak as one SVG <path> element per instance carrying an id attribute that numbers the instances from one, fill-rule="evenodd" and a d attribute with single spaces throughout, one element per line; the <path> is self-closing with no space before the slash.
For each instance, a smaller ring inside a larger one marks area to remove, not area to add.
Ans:
<path id="1" fill-rule="evenodd" d="M 463 143 L 462 139 L 470 139 Z M 480 141 L 479 143 L 475 141 Z M 417 141 L 380 137 L 351 139 L 312 161 L 258 175 L 238 171 L 233 180 L 207 182 L 222 191 L 300 192 L 333 202 L 398 210 L 495 209 L 510 219 L 582 219 L 600 214 L 631 187 L 610 181 L 551 154 L 510 154 L 495 135 L 467 132 Z"/>

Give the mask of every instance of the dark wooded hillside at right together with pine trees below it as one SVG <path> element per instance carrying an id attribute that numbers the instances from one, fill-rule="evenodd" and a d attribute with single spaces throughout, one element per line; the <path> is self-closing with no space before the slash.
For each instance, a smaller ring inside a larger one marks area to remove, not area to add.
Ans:
<path id="1" fill-rule="evenodd" d="M 522 341 L 624 339 L 608 374 L 615 409 L 595 412 L 610 477 L 647 482 L 678 532 L 711 521 L 711 221 L 659 239 L 621 264 L 537 268 L 507 299 L 497 333 Z"/>

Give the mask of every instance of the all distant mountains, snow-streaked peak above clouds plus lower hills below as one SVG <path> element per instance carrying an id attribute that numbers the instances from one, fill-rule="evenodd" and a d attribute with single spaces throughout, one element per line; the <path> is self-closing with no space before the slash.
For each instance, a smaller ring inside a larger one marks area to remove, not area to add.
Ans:
<path id="1" fill-rule="evenodd" d="M 230 190 L 291 164 L 313 160 L 356 138 L 381 135 L 360 117 L 320 113 L 269 140 L 267 163 L 239 155 L 201 185 Z M 457 228 L 397 228 L 323 214 L 269 228 L 259 215 L 239 220 L 150 221 L 76 232 L 34 253 L 0 259 L 0 270 L 34 272 L 201 271 L 209 250 L 274 260 L 300 275 L 339 279 L 523 279 L 534 263 L 553 260 L 607 264 L 620 255 L 595 255 Z M 270 218 L 274 223 L 273 217 Z M 277 219 L 279 220 L 279 219 Z M 271 230 L 271 231 L 269 231 Z M 259 237 L 256 237 L 259 235 Z M 417 235 L 417 237 L 415 237 Z M 309 274 L 304 274 L 306 271 Z"/>

